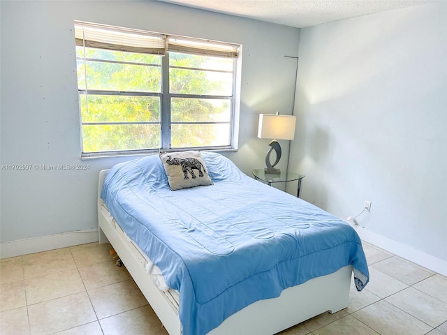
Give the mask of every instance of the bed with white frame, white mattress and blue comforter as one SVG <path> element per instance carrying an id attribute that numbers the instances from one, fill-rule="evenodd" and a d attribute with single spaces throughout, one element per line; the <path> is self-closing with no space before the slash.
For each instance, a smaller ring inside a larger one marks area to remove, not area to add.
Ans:
<path id="1" fill-rule="evenodd" d="M 100 243 L 110 241 L 170 335 L 276 334 L 346 308 L 351 281 L 367 285 L 349 224 L 220 154 L 200 158 L 209 186 L 171 191 L 158 155 L 99 175 Z"/>

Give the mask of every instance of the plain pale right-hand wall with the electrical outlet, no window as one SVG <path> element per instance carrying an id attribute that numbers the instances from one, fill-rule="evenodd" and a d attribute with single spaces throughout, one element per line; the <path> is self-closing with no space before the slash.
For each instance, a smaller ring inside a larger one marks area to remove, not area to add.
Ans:
<path id="1" fill-rule="evenodd" d="M 446 17 L 440 1 L 301 29 L 289 168 L 305 200 L 341 218 L 371 201 L 365 237 L 447 272 Z"/>

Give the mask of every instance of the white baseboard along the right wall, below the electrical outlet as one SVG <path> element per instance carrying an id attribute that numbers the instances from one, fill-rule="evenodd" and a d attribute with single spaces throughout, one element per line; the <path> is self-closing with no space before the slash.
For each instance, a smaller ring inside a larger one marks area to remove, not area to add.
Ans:
<path id="1" fill-rule="evenodd" d="M 362 228 L 358 225 L 352 226 L 358 232 L 360 239 L 363 241 L 374 244 L 374 246 L 378 246 L 383 250 L 394 253 L 397 256 L 405 258 L 406 260 L 416 263 L 417 265 L 426 267 L 427 269 L 435 271 L 438 274 L 447 276 L 447 261 L 441 260 L 441 258 L 437 258 L 428 253 L 424 253 L 423 251 L 413 248 L 412 246 L 408 246 L 393 239 L 389 239 L 388 237 L 384 237 L 381 234 L 377 234 L 376 232 L 372 232 L 371 230 L 367 230 L 366 228 Z"/>

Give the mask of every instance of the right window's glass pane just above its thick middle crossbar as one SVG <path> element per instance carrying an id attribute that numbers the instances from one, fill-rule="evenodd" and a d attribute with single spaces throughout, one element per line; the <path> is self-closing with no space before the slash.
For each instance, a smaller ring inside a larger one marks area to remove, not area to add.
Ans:
<path id="1" fill-rule="evenodd" d="M 170 68 L 169 75 L 171 93 L 231 96 L 233 92 L 233 73 Z"/>

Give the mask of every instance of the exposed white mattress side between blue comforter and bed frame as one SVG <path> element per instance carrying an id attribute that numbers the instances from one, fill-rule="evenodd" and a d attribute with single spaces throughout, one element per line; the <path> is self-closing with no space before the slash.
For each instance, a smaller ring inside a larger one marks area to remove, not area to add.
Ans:
<path id="1" fill-rule="evenodd" d="M 126 233 L 122 230 L 122 228 L 119 226 L 117 221 L 115 221 L 115 218 L 113 218 L 112 215 L 110 215 L 107 207 L 105 207 L 105 204 L 101 206 L 101 212 L 105 215 L 106 218 L 108 218 L 108 221 L 112 224 L 112 227 L 117 230 L 118 234 L 122 239 L 125 241 L 128 241 L 129 244 L 133 247 L 131 249 L 133 251 L 133 255 L 135 256 L 135 259 L 138 260 L 140 265 L 146 269 L 147 274 L 150 275 L 152 278 L 152 281 L 156 283 L 157 287 L 163 291 L 170 300 L 170 302 L 177 308 L 177 311 L 179 309 L 179 292 L 177 290 L 173 290 L 172 288 L 169 288 L 168 285 L 166 285 L 166 281 L 163 278 L 163 274 L 161 274 L 161 269 L 154 265 L 154 262 L 150 260 L 147 255 L 138 247 L 132 239 L 130 239 Z M 125 266 L 125 265 L 124 265 Z"/>

